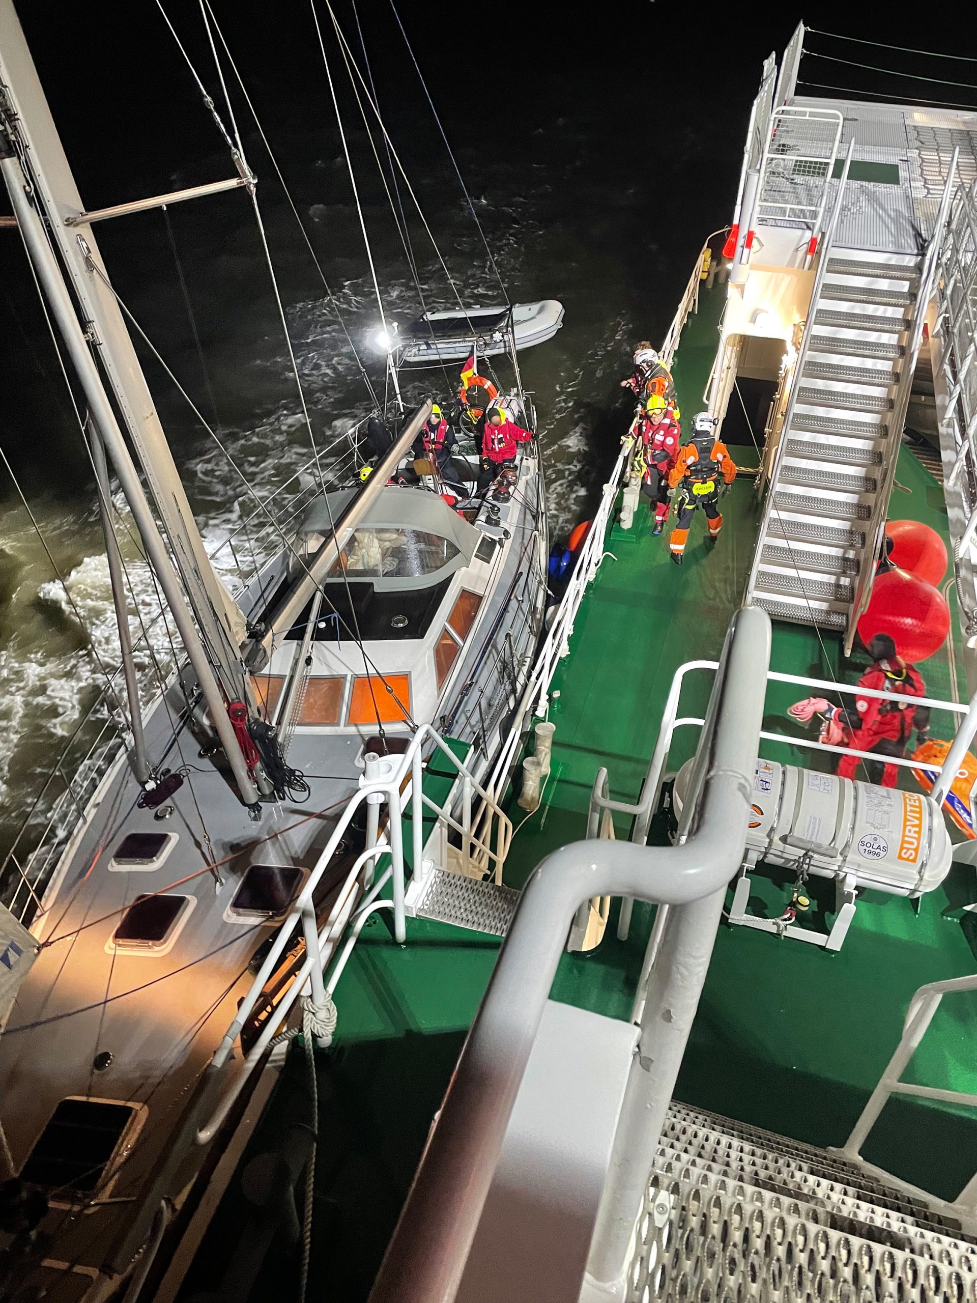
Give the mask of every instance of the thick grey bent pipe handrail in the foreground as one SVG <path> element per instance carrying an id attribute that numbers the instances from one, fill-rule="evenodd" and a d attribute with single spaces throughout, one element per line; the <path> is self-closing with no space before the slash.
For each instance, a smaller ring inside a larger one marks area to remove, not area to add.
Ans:
<path id="1" fill-rule="evenodd" d="M 371 1303 L 456 1296 L 567 934 L 586 900 L 608 895 L 673 907 L 591 1243 L 595 1280 L 623 1273 L 726 887 L 746 843 L 769 663 L 770 619 L 744 607 L 716 668 L 675 846 L 577 842 L 548 856 L 524 887 Z"/>

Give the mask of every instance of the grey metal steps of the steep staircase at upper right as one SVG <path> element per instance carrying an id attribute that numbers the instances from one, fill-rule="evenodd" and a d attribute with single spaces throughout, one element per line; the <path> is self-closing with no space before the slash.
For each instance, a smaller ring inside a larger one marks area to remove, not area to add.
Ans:
<path id="1" fill-rule="evenodd" d="M 831 249 L 771 472 L 752 579 L 771 616 L 843 632 L 899 452 L 918 257 Z"/>

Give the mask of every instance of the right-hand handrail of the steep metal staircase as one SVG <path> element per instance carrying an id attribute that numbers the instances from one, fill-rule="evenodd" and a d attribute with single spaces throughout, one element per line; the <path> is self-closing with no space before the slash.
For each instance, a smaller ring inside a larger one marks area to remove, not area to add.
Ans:
<path id="1" fill-rule="evenodd" d="M 848 618 L 848 631 L 844 640 L 845 655 L 851 654 L 856 633 L 858 632 L 858 620 L 862 618 L 865 609 L 869 605 L 871 586 L 875 580 L 875 563 L 882 555 L 882 541 L 885 538 L 886 517 L 888 515 L 888 499 L 892 494 L 892 485 L 895 483 L 896 469 L 899 466 L 899 448 L 901 446 L 903 426 L 905 425 L 905 414 L 909 409 L 909 399 L 912 396 L 916 362 L 920 357 L 920 345 L 922 344 L 922 328 L 926 323 L 926 310 L 935 289 L 937 274 L 941 266 L 941 249 L 947 233 L 954 193 L 959 184 L 959 156 L 960 150 L 957 147 L 954 150 L 954 156 L 950 160 L 950 171 L 947 172 L 946 185 L 943 186 L 943 195 L 941 198 L 935 227 L 926 246 L 926 253 L 924 254 L 922 267 L 920 268 L 920 288 L 913 306 L 912 322 L 905 341 L 905 352 L 899 367 L 899 382 L 892 399 L 892 410 L 888 418 L 888 439 L 886 440 L 886 452 L 883 453 L 883 463 L 878 474 L 878 487 L 875 490 L 875 500 L 871 504 L 871 517 L 865 526 L 865 546 L 858 563 L 858 577 L 855 584 L 855 599 L 852 602 L 852 610 Z M 970 335 L 970 360 L 973 358 L 974 352 L 974 339 L 976 336 Z M 965 370 L 968 369 L 969 364 Z M 977 523 L 974 528 L 977 528 Z"/>

